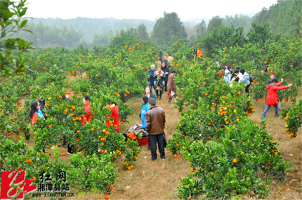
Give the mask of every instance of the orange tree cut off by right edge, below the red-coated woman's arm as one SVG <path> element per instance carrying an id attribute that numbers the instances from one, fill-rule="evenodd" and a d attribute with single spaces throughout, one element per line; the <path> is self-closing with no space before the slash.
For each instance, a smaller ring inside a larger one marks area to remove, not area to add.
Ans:
<path id="1" fill-rule="evenodd" d="M 285 120 L 285 131 L 289 134 L 289 137 L 295 138 L 302 124 L 302 99 L 300 98 L 288 109 L 282 110 L 281 115 Z"/>

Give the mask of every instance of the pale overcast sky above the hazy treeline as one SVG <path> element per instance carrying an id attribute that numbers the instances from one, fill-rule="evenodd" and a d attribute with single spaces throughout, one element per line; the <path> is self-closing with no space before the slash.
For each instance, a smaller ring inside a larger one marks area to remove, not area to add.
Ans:
<path id="1" fill-rule="evenodd" d="M 277 0 L 27 0 L 27 17 L 34 18 L 115 18 L 156 20 L 176 12 L 181 21 L 210 19 L 214 16 L 253 16 Z"/>

